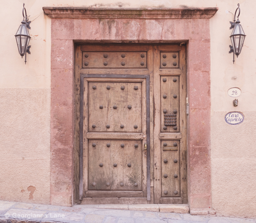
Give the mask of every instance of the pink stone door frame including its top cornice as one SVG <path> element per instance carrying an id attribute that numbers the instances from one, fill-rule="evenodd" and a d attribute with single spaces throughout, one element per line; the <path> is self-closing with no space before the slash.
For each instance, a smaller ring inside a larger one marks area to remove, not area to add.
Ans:
<path id="1" fill-rule="evenodd" d="M 210 18 L 218 8 L 44 7 L 51 27 L 50 203 L 75 202 L 75 42 L 187 43 L 188 204 L 211 214 Z M 79 92 L 78 92 L 79 94 Z"/>

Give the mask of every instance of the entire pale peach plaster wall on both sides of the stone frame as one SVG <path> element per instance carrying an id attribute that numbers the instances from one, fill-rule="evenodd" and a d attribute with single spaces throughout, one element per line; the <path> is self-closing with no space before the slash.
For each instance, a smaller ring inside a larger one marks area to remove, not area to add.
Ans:
<path id="1" fill-rule="evenodd" d="M 22 3 L 21 0 L 1 3 L 0 16 L 4 23 L 0 30 L 0 154 L 3 167 L 0 169 L 0 199 L 50 203 L 51 19 L 42 13 L 42 7 L 218 7 L 210 19 L 212 208 L 218 215 L 256 218 L 253 199 L 256 196 L 254 0 L 239 2 L 239 18 L 247 36 L 235 64 L 233 55 L 227 53 L 231 44 L 229 21 L 233 20 L 233 15 L 226 10 L 234 13 L 237 2 L 233 0 L 142 0 L 139 4 L 135 0 L 94 0 L 88 4 L 82 0 L 25 0 L 27 14 L 33 20 L 31 54 L 27 56 L 26 65 L 18 54 L 13 36 L 22 20 Z M 65 63 L 65 59 L 61 63 Z M 198 67 L 194 72 L 200 76 Z M 233 98 L 227 95 L 230 87 L 242 90 L 238 107 L 233 107 Z M 230 111 L 244 113 L 245 121 L 229 126 L 224 116 Z M 33 199 L 29 200 L 31 190 L 34 190 Z"/>

